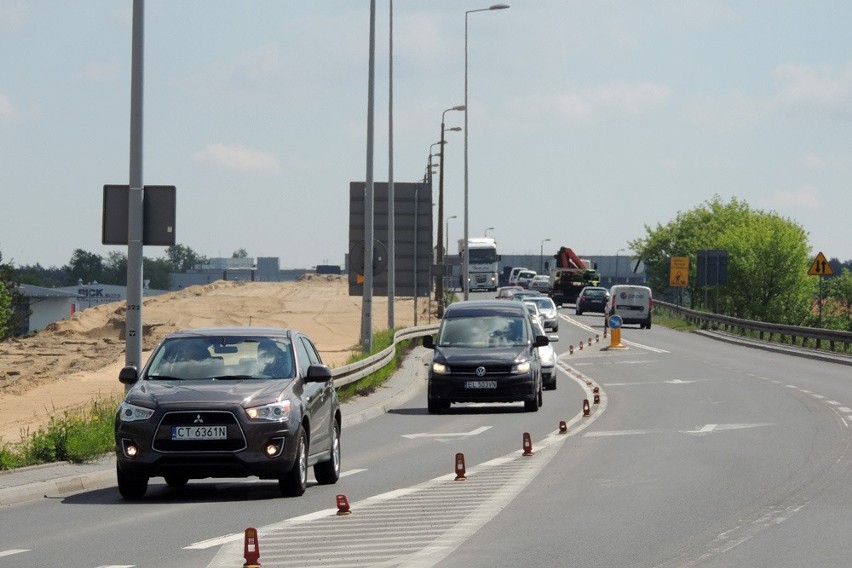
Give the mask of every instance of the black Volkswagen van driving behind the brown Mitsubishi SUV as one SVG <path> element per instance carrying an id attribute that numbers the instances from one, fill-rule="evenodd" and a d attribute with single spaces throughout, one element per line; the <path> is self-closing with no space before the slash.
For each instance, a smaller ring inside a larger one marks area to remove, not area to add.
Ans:
<path id="1" fill-rule="evenodd" d="M 423 338 L 435 350 L 429 367 L 430 414 L 454 402 L 516 402 L 535 412 L 542 404 L 541 362 L 536 335 L 522 302 L 469 300 L 450 304 L 437 338 Z"/>

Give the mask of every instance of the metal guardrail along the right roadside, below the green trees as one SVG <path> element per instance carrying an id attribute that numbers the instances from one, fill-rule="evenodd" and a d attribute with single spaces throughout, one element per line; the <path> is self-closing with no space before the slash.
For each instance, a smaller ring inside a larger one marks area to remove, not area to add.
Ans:
<path id="1" fill-rule="evenodd" d="M 831 352 L 837 352 L 837 346 L 840 345 L 842 346 L 840 352 L 843 353 L 848 353 L 849 345 L 852 344 L 852 332 L 848 331 L 744 320 L 730 316 L 698 312 L 656 299 L 654 300 L 654 305 L 681 314 L 687 321 L 701 327 L 715 326 L 717 329 L 722 328 L 725 331 L 738 333 L 739 335 L 745 335 L 746 332 L 757 333 L 761 340 L 772 341 L 772 338 L 777 335 L 782 344 L 796 344 L 798 339 L 802 339 L 803 346 L 813 346 L 815 349 L 821 349 L 822 343 L 828 342 Z"/>

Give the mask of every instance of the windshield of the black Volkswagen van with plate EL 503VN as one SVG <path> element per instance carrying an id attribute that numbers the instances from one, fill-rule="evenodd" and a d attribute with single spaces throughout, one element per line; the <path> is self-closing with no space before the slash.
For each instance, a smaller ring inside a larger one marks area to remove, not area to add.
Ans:
<path id="1" fill-rule="evenodd" d="M 523 316 L 489 315 L 447 318 L 437 344 L 443 347 L 495 347 L 526 345 L 530 338 Z"/>

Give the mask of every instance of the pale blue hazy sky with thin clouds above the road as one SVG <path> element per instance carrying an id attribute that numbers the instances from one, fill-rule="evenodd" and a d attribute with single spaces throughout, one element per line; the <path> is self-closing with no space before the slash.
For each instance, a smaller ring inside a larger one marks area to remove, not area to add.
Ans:
<path id="1" fill-rule="evenodd" d="M 464 125 L 444 111 L 465 102 L 467 51 L 468 128 L 446 132 L 442 221 L 433 207 L 450 242 L 467 138 L 468 231 L 505 254 L 630 254 L 719 196 L 852 259 L 852 2 L 509 3 L 392 4 L 395 182 L 423 179 L 442 117 Z M 375 5 L 385 182 L 391 4 Z M 103 186 L 129 183 L 132 21 L 131 0 L 0 2 L 2 262 L 127 253 L 101 231 Z M 344 264 L 349 183 L 367 177 L 369 23 L 368 0 L 145 2 L 142 177 L 177 188 L 178 244 Z"/>

